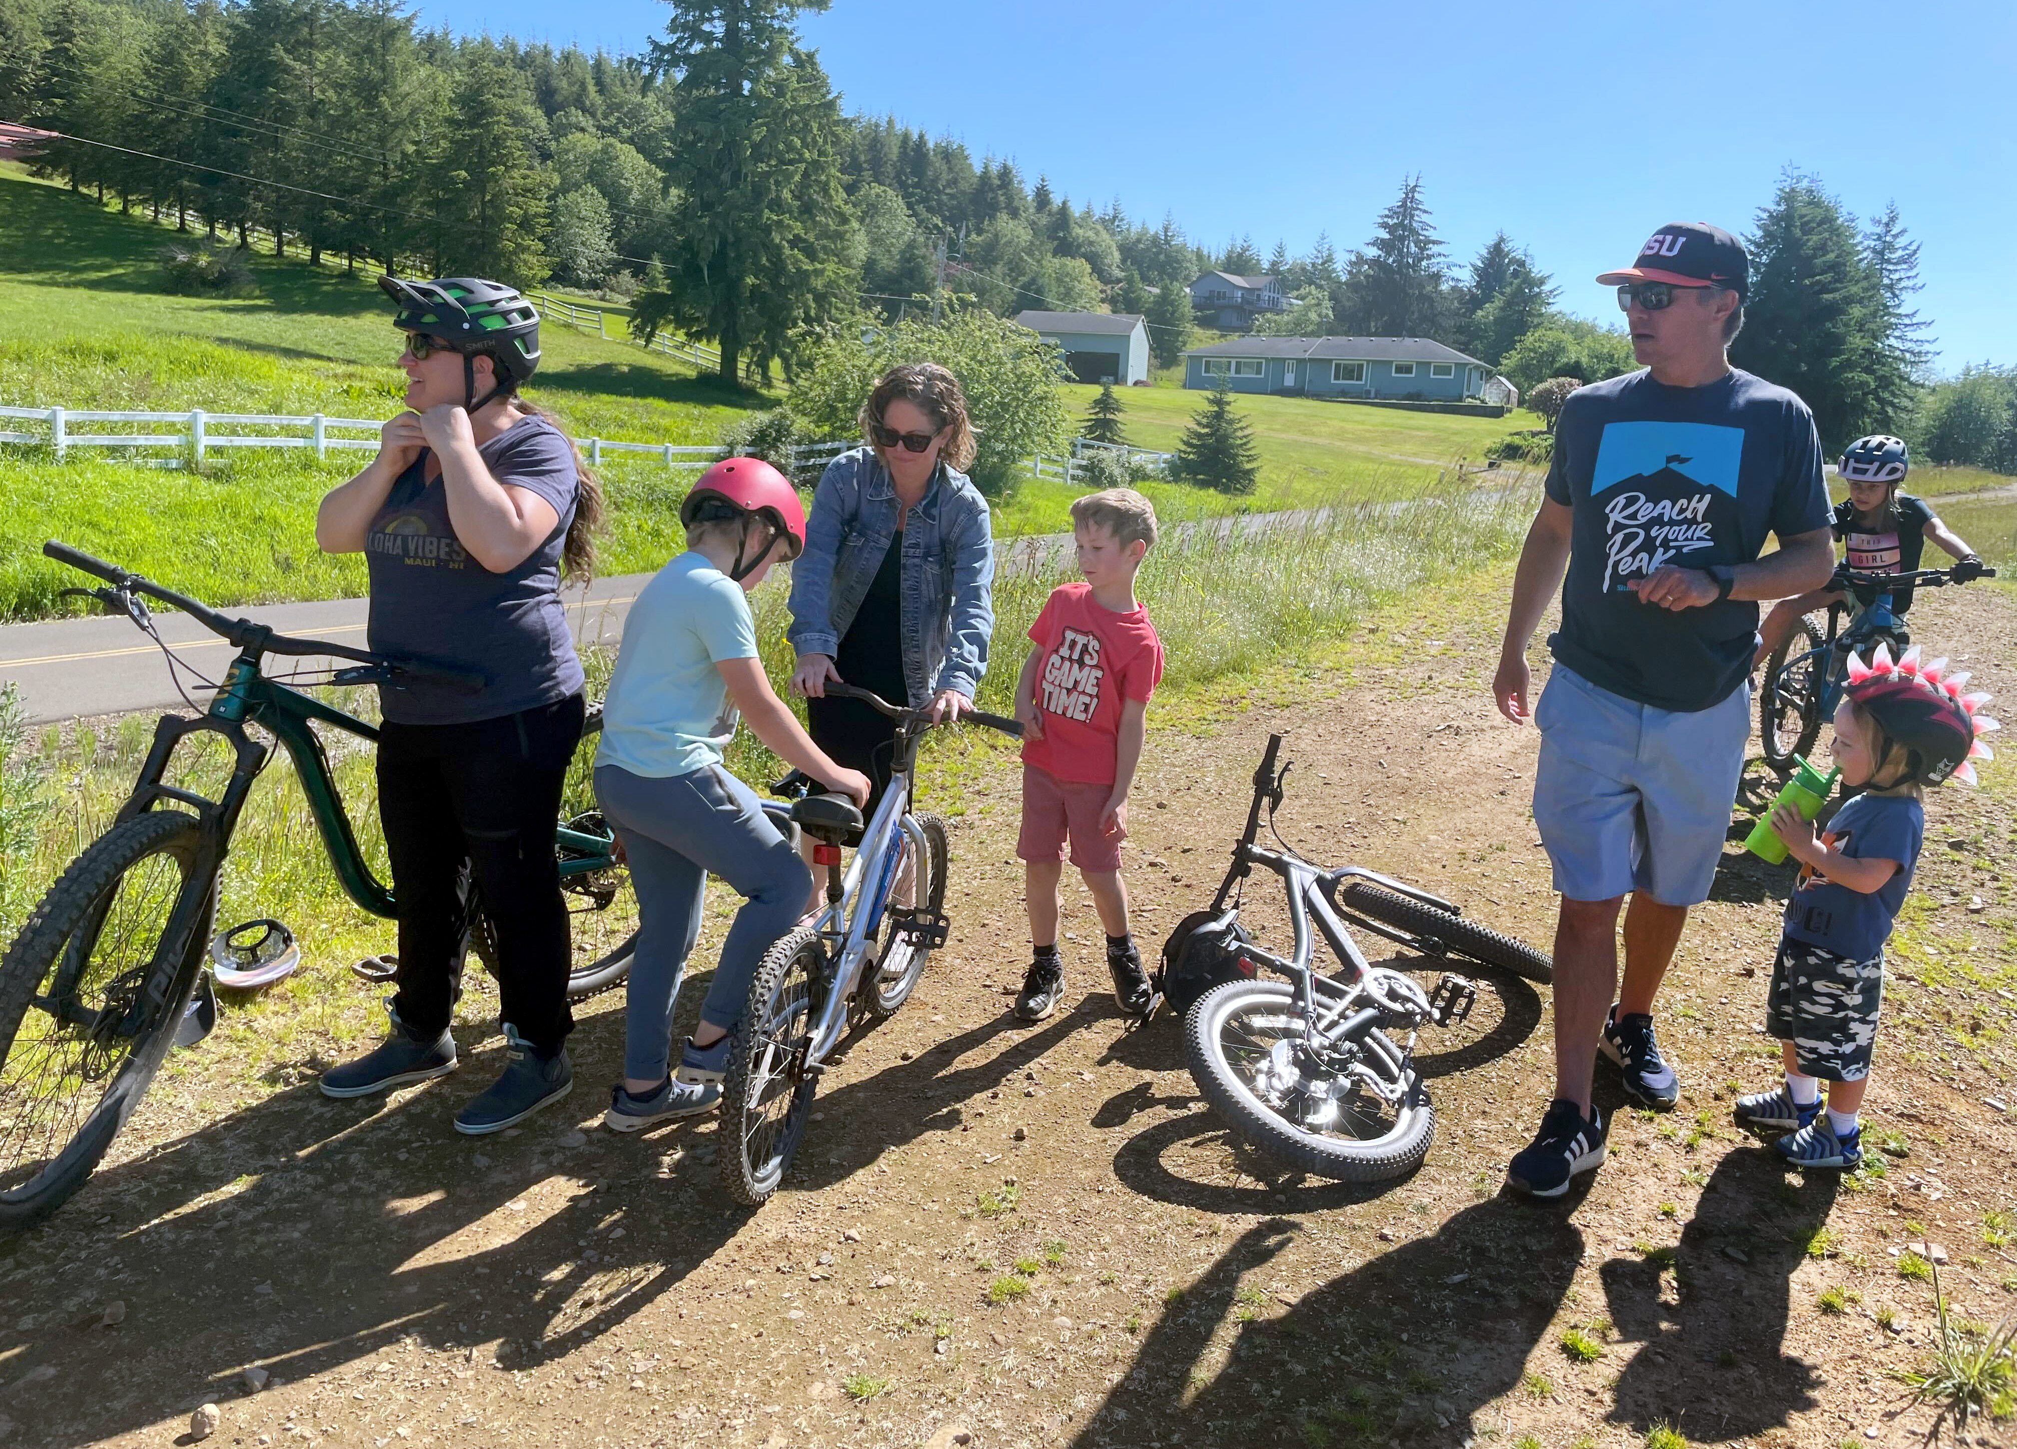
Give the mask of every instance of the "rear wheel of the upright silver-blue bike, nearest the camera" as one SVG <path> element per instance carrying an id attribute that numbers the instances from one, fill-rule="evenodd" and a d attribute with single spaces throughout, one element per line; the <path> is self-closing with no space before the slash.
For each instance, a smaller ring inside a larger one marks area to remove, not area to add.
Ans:
<path id="1" fill-rule="evenodd" d="M 825 998 L 827 959 L 819 937 L 799 927 L 756 963 L 742 1004 L 742 1028 L 722 1080 L 722 1187 L 738 1203 L 768 1201 L 813 1110 L 817 1078 L 805 1070 L 813 1024 Z"/>

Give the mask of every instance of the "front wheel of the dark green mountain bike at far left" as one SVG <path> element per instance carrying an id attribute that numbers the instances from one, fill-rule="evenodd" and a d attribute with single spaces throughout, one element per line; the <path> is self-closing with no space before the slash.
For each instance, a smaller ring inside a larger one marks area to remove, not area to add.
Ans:
<path id="1" fill-rule="evenodd" d="M 210 937 L 216 893 L 198 883 L 202 826 L 149 810 L 99 836 L 56 879 L 0 959 L 0 1225 L 56 1211 L 147 1092 Z M 173 949 L 188 891 L 206 901 L 182 939 L 167 1000 L 145 985 Z"/>

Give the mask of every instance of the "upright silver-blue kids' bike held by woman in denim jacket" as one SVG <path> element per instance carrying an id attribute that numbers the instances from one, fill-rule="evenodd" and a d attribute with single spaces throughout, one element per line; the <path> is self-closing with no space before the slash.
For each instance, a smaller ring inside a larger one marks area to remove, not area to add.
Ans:
<path id="1" fill-rule="evenodd" d="M 766 1201 L 785 1181 L 819 1074 L 847 1026 L 894 1016 L 924 975 L 926 959 L 946 943 L 946 822 L 912 810 L 918 746 L 934 721 L 924 709 L 900 709 L 853 685 L 829 683 L 827 693 L 896 719 L 894 772 L 865 826 L 851 800 L 807 794 L 813 782 L 797 770 L 773 786 L 773 794 L 797 800 L 764 804 L 817 842 L 813 865 L 825 869 L 827 905 L 758 961 L 722 1080 L 716 1161 L 728 1195 L 748 1205 Z M 976 711 L 962 719 L 1023 734 L 1023 726 L 1002 715 Z M 861 844 L 843 871 L 841 844 L 857 834 Z"/>

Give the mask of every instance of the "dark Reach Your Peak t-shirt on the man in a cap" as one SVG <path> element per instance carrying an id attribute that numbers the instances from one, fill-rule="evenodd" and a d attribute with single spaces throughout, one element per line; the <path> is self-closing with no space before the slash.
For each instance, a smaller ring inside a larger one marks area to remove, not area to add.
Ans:
<path id="1" fill-rule="evenodd" d="M 1745 681 L 1759 607 L 1660 609 L 1630 580 L 1664 564 L 1747 564 L 1767 534 L 1829 526 L 1813 413 L 1735 369 L 1706 387 L 1642 371 L 1569 393 L 1547 496 L 1575 510 L 1549 649 L 1593 685 L 1660 709 L 1708 709 Z"/>

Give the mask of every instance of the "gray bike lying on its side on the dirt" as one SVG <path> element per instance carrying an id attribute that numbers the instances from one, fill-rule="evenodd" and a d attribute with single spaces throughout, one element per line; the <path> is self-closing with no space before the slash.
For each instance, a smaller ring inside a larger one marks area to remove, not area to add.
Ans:
<path id="1" fill-rule="evenodd" d="M 1553 979 L 1553 961 L 1513 937 L 1462 919 L 1448 901 L 1361 867 L 1325 871 L 1287 844 L 1255 844 L 1261 810 L 1275 832 L 1289 766 L 1275 768 L 1281 736 L 1269 736 L 1255 772 L 1247 830 L 1208 911 L 1178 925 L 1164 947 L 1164 992 L 1182 1004 L 1208 985 L 1184 1018 L 1190 1074 L 1249 1145 L 1307 1173 L 1347 1183 L 1404 1177 L 1428 1155 L 1436 1108 L 1414 1070 L 1414 1034 L 1454 1026 L 1476 1004 L 1476 987 L 1444 973 L 1424 992 L 1402 971 L 1370 965 L 1347 921 L 1424 955 L 1458 955 Z M 1277 842 L 1281 834 L 1275 832 Z M 1244 879 L 1255 867 L 1281 877 L 1295 947 L 1267 951 L 1238 925 Z M 1339 959 L 1333 975 L 1313 965 L 1315 931 Z M 1287 981 L 1253 979 L 1259 967 Z M 1186 990 L 1188 987 L 1188 990 Z M 1408 1032 L 1396 1044 L 1390 1032 Z"/>

